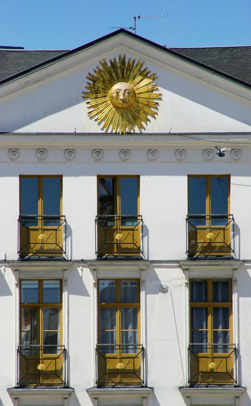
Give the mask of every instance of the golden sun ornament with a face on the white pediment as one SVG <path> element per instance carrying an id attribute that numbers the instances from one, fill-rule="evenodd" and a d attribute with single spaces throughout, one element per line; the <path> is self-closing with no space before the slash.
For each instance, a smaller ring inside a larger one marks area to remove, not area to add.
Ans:
<path id="1" fill-rule="evenodd" d="M 94 118 L 101 129 L 120 134 L 134 131 L 134 125 L 139 131 L 145 129 L 143 123 L 150 121 L 148 116 L 155 118 L 158 114 L 158 101 L 162 94 L 158 91 L 155 73 L 147 67 L 142 69 L 145 62 L 129 58 L 126 55 L 119 55 L 110 59 L 110 65 L 103 59 L 99 66 L 94 69 L 94 74 L 88 73 L 83 98 L 87 106 L 92 108 L 88 112 L 90 118 Z"/>

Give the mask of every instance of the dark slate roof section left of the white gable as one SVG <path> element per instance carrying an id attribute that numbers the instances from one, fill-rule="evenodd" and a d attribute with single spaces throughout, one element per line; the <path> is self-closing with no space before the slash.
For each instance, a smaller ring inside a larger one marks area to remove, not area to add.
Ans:
<path id="1" fill-rule="evenodd" d="M 64 52 L 65 50 L 11 50 L 0 48 L 0 80 Z"/>

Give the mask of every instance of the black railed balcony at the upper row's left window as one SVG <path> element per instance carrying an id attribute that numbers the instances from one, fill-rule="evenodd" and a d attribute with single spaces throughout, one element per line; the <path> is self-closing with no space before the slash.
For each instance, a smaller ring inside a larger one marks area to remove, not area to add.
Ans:
<path id="1" fill-rule="evenodd" d="M 66 252 L 65 215 L 23 215 L 18 218 L 18 254 L 62 256 Z"/>

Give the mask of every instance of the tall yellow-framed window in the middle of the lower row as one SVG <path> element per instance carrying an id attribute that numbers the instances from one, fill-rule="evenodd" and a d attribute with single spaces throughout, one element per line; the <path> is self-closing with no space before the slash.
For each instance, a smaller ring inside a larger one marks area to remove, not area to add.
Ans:
<path id="1" fill-rule="evenodd" d="M 97 384 L 142 383 L 142 352 L 139 280 L 99 279 Z"/>

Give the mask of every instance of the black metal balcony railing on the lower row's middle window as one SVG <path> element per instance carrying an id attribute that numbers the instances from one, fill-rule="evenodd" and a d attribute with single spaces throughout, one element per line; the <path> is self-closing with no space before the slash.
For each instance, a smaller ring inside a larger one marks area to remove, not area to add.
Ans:
<path id="1" fill-rule="evenodd" d="M 97 344 L 96 385 L 145 386 L 141 344 Z"/>

